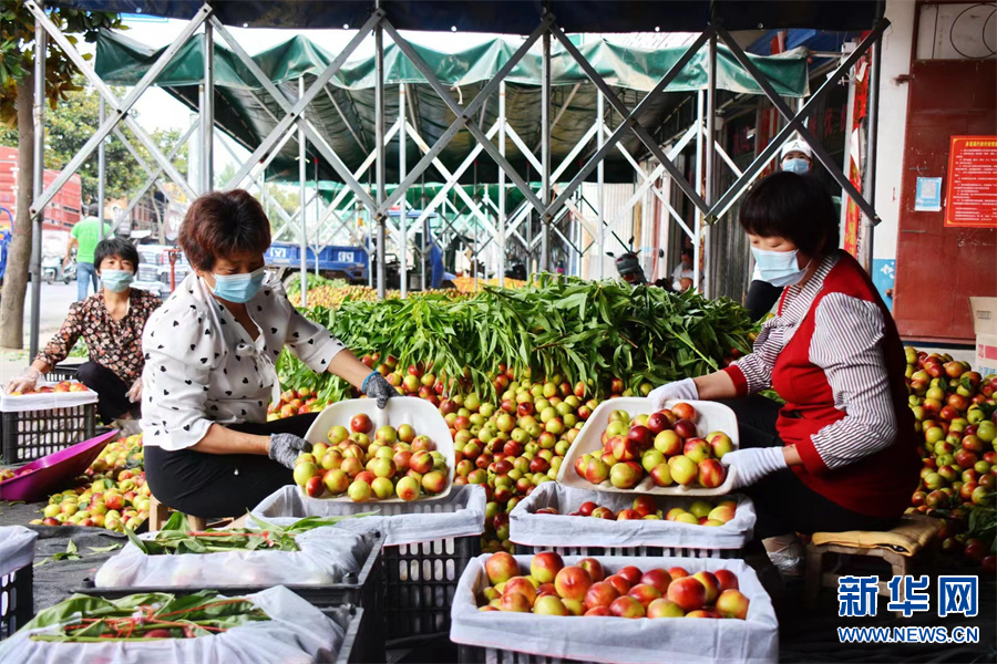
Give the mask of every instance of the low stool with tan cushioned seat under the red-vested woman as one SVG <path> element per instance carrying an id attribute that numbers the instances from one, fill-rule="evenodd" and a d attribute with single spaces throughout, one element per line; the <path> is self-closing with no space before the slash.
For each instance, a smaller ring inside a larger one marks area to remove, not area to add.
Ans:
<path id="1" fill-rule="evenodd" d="M 814 532 L 806 546 L 806 605 L 813 608 L 821 588 L 837 588 L 839 578 L 844 575 L 823 571 L 825 553 L 880 558 L 890 564 L 894 575 L 911 574 L 914 569 L 933 567 L 934 549 L 927 544 L 939 528 L 942 521 L 938 519 L 907 513 L 895 528 L 885 532 Z M 890 595 L 886 581 L 880 581 L 877 587 L 878 594 Z M 902 584 L 900 601 L 904 601 L 905 591 Z"/>

